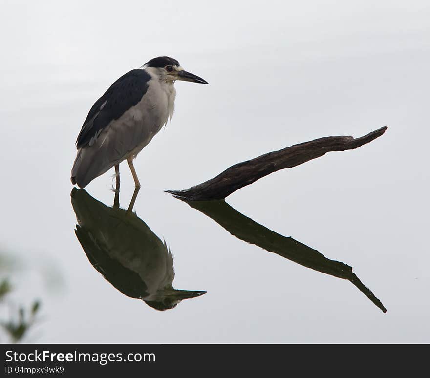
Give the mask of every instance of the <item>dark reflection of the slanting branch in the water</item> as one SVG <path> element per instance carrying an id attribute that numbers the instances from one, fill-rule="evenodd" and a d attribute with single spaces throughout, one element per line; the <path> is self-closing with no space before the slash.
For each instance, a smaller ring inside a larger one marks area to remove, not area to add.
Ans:
<path id="1" fill-rule="evenodd" d="M 352 268 L 339 261 L 326 258 L 322 253 L 261 226 L 252 219 L 233 209 L 224 200 L 187 201 L 192 208 L 212 218 L 216 223 L 237 238 L 255 244 L 269 252 L 274 252 L 316 271 L 347 279 L 367 296 L 384 313 L 387 312 L 381 301 L 352 273 Z"/>

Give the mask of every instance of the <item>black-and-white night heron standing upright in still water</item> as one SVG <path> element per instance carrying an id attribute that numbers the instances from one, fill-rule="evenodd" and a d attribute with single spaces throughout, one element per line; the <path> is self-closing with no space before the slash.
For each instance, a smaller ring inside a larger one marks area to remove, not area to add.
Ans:
<path id="1" fill-rule="evenodd" d="M 85 188 L 93 179 L 127 160 L 135 186 L 140 182 L 133 159 L 172 119 L 176 80 L 209 84 L 185 71 L 176 59 L 160 56 L 132 69 L 100 97 L 86 116 L 76 139 L 71 182 Z"/>

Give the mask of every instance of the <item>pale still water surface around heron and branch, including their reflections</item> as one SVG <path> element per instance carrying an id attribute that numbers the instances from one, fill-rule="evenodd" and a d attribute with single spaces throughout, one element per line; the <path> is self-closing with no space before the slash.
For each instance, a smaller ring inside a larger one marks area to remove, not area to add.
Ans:
<path id="1" fill-rule="evenodd" d="M 23 341 L 429 342 L 427 2 L 408 13 L 360 2 L 315 18 L 280 4 L 275 14 L 248 6 L 241 21 L 180 13 L 172 28 L 188 42 L 174 46 L 156 25 L 175 5 L 153 13 L 148 42 L 133 4 L 115 33 L 104 28 L 117 21 L 113 8 L 103 21 L 90 17 L 99 9 L 51 4 L 47 19 L 47 5 L 8 5 L 8 18 L 26 23 L 1 23 L 15 30 L 1 63 L 1 274 L 12 284 L 2 319 L 38 299 Z M 210 85 L 176 84 L 172 123 L 135 163 L 134 214 L 126 164 L 119 208 L 113 170 L 72 190 L 73 143 L 108 85 L 160 54 Z M 383 125 L 368 145 L 276 172 L 225 202 L 164 192 Z"/>

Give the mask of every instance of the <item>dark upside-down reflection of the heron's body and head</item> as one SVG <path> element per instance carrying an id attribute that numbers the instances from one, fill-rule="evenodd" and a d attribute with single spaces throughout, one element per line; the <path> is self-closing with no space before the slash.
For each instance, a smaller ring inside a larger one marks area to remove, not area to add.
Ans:
<path id="1" fill-rule="evenodd" d="M 73 188 L 71 197 L 88 260 L 120 292 L 157 310 L 206 293 L 173 289 L 172 253 L 135 213 L 108 207 L 84 189 Z"/>

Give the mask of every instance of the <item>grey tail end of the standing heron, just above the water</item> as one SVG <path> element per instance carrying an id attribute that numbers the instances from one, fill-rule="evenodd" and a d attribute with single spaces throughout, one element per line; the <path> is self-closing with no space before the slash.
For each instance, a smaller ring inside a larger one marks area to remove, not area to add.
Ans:
<path id="1" fill-rule="evenodd" d="M 75 162 L 71 172 L 70 180 L 72 184 L 77 184 L 80 188 L 86 187 L 96 177 L 107 172 L 116 162 L 104 161 L 104 159 L 95 159 L 97 149 L 80 148 L 76 155 Z"/>

